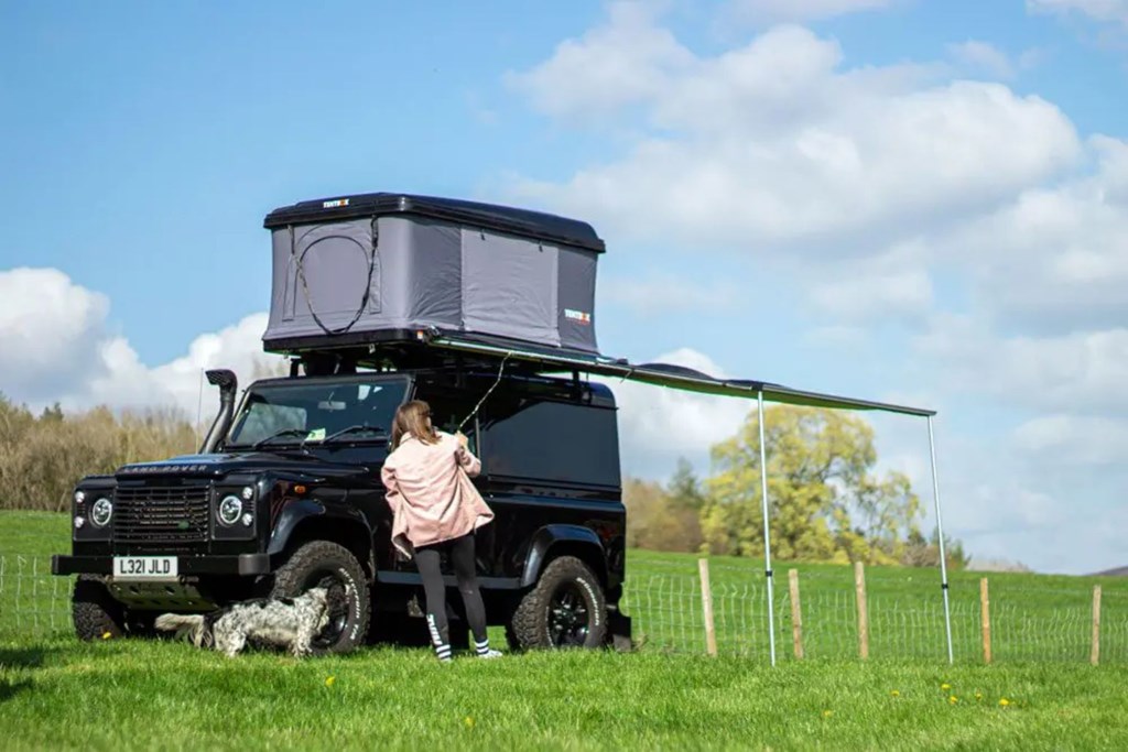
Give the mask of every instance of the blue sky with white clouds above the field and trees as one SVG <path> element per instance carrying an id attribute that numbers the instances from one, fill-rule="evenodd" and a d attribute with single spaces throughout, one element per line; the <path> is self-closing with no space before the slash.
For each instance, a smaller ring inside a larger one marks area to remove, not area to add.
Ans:
<path id="1" fill-rule="evenodd" d="M 272 209 L 508 203 L 607 241 L 605 354 L 935 408 L 949 536 L 1121 566 L 1126 85 L 1128 0 L 0 3 L 0 391 L 194 416 Z M 749 408 L 614 388 L 647 478 Z"/>

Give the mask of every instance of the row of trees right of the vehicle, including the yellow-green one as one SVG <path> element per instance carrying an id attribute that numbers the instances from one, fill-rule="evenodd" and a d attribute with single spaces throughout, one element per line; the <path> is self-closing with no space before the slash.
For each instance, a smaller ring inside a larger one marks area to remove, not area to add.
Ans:
<path id="1" fill-rule="evenodd" d="M 920 499 L 908 477 L 876 472 L 869 423 L 847 413 L 781 405 L 765 410 L 764 434 L 773 557 L 938 565 L 936 531 L 922 531 Z M 627 546 L 764 556 L 757 414 L 711 454 L 705 478 L 682 460 L 664 484 L 626 480 Z M 945 536 L 944 547 L 949 566 L 967 566 L 962 543 Z"/>

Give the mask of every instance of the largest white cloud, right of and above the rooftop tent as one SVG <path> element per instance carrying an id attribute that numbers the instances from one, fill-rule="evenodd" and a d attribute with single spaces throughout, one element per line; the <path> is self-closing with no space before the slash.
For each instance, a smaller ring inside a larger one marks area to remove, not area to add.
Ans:
<path id="1" fill-rule="evenodd" d="M 659 34 L 649 19 L 616 24 L 584 36 L 593 59 L 628 55 L 633 38 Z M 840 70 L 838 45 L 804 28 L 776 27 L 711 57 L 672 45 L 632 57 L 628 86 L 559 51 L 512 76 L 545 112 L 629 101 L 646 129 L 620 158 L 563 184 L 519 180 L 512 193 L 624 236 L 747 254 L 803 240 L 841 253 L 989 205 L 1079 154 L 1073 125 L 1043 99 L 996 83 L 937 85 L 916 67 Z M 565 63 L 567 76 L 553 73 Z"/>

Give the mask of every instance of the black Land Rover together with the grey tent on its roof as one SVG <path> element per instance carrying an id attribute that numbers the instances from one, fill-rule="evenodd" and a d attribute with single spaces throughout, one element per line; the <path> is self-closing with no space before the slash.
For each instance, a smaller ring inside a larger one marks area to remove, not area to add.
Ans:
<path id="1" fill-rule="evenodd" d="M 253 383 L 236 407 L 235 374 L 210 371 L 221 409 L 200 454 L 78 485 L 72 552 L 53 560 L 79 575 L 78 635 L 325 584 L 333 619 L 318 649 L 425 642 L 421 581 L 390 543 L 380 481 L 396 407 L 417 398 L 483 461 L 476 483 L 496 514 L 477 534 L 490 622 L 520 647 L 628 645 L 615 400 L 579 370 L 491 350 L 598 360 L 605 247 L 592 228 L 404 194 L 301 202 L 265 227 L 264 347 L 291 357 L 290 377 Z M 469 348 L 431 346 L 451 334 Z"/>

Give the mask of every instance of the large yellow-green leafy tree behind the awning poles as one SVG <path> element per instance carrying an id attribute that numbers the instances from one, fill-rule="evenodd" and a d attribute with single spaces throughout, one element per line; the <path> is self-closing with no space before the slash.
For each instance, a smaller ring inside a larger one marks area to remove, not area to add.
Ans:
<path id="1" fill-rule="evenodd" d="M 920 504 L 908 479 L 874 475 L 873 428 L 835 410 L 765 410 L 773 552 L 788 560 L 895 563 L 917 530 Z M 713 448 L 702 530 L 715 554 L 760 556 L 759 422 Z"/>

